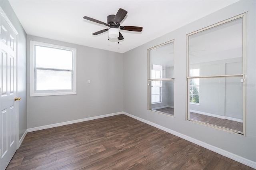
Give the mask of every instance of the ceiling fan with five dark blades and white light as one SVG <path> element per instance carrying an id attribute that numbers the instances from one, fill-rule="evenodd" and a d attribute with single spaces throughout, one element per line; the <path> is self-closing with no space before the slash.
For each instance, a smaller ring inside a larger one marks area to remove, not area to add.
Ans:
<path id="1" fill-rule="evenodd" d="M 92 33 L 92 35 L 98 35 L 101 34 L 103 32 L 108 31 L 108 37 L 110 38 L 118 38 L 118 40 L 123 40 L 124 37 L 122 36 L 122 34 L 119 32 L 118 28 L 120 30 L 127 30 L 127 31 L 136 31 L 136 32 L 141 32 L 142 31 L 142 27 L 136 27 L 136 26 L 120 26 L 120 22 L 122 22 L 122 20 L 124 19 L 124 17 L 126 16 L 127 11 L 119 8 L 118 12 L 116 13 L 116 15 L 109 15 L 107 17 L 107 22 L 108 24 L 101 22 L 99 20 L 95 20 L 93 18 L 90 18 L 88 16 L 84 16 L 83 18 L 86 20 L 90 20 L 92 22 L 96 22 L 99 24 L 103 24 L 104 26 L 108 26 L 109 28 L 106 28 L 104 30 L 100 30 L 97 32 Z M 108 39 L 109 40 L 109 39 Z M 119 42 L 118 42 L 119 43 Z"/>

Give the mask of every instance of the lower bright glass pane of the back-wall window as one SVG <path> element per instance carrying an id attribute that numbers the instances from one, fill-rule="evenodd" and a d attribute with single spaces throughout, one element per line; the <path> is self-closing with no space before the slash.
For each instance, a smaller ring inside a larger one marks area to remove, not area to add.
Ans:
<path id="1" fill-rule="evenodd" d="M 36 70 L 36 90 L 71 90 L 71 71 Z"/>

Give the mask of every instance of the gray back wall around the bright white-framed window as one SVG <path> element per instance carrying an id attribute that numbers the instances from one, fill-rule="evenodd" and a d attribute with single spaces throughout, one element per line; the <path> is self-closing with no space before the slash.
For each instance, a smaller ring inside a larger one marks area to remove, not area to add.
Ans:
<path id="1" fill-rule="evenodd" d="M 28 128 L 123 111 L 123 55 L 121 53 L 28 35 L 28 73 L 30 40 L 76 48 L 77 94 L 29 97 L 28 90 Z M 87 83 L 88 79 L 90 84 Z M 29 80 L 28 74 L 28 89 Z"/>

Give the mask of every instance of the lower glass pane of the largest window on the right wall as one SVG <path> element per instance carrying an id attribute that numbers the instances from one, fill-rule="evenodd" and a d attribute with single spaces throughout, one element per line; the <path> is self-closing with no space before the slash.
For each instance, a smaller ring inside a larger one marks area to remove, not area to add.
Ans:
<path id="1" fill-rule="evenodd" d="M 241 77 L 216 77 L 200 79 L 200 96 L 188 94 L 188 118 L 232 130 L 242 129 L 243 122 L 243 83 Z M 198 87 L 198 91 L 199 91 Z"/>

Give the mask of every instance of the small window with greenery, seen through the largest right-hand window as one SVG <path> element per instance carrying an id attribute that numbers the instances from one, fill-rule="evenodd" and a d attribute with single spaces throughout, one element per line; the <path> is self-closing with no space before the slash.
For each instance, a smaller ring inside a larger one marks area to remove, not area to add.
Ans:
<path id="1" fill-rule="evenodd" d="M 190 69 L 189 76 L 199 76 L 199 69 Z M 190 79 L 189 102 L 199 104 L 199 79 Z"/>

